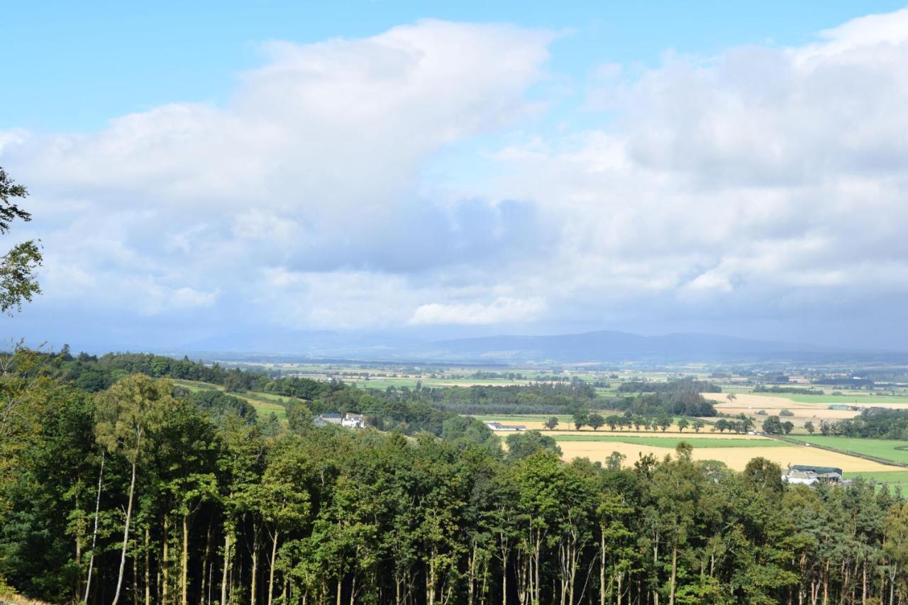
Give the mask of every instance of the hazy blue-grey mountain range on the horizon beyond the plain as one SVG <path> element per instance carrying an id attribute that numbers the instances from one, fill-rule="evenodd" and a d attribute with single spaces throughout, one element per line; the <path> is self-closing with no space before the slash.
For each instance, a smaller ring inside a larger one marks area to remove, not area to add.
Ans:
<path id="1" fill-rule="evenodd" d="M 351 332 L 261 332 L 222 334 L 181 347 L 179 352 L 343 358 L 413 362 L 722 362 L 745 360 L 864 359 L 892 353 L 848 351 L 793 342 L 675 333 L 641 336 L 601 331 L 551 336 L 488 336 L 425 342 Z"/>

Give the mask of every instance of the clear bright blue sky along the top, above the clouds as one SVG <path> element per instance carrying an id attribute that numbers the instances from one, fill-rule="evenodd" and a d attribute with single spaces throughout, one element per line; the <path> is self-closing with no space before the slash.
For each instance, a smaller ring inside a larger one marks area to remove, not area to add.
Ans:
<path id="1" fill-rule="evenodd" d="M 562 33 L 554 72 L 582 80 L 599 64 L 657 64 L 670 49 L 798 45 L 899 2 L 122 2 L 13 3 L 0 52 L 9 92 L 0 127 L 92 131 L 173 102 L 223 102 L 268 40 L 378 34 L 421 18 L 512 23 Z"/>

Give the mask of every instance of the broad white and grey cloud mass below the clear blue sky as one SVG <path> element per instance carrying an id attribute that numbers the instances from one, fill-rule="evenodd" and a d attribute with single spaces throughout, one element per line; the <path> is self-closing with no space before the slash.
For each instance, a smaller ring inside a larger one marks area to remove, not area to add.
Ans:
<path id="1" fill-rule="evenodd" d="M 422 21 L 274 42 L 224 106 L 0 133 L 47 257 L 35 325 L 880 336 L 897 319 L 908 10 L 802 47 L 604 65 L 557 134 L 538 126 L 553 39 Z M 482 174 L 427 170 L 455 148 Z"/>

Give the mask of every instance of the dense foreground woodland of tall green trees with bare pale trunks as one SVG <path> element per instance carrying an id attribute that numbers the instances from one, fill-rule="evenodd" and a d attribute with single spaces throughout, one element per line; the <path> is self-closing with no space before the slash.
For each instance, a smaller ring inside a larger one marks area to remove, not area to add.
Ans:
<path id="1" fill-rule="evenodd" d="M 89 393 L 4 359 L 0 574 L 89 603 L 870 603 L 908 599 L 908 506 L 788 487 L 686 444 L 605 468 L 551 439 L 217 421 L 166 379 Z M 52 369 L 53 370 L 53 369 Z M 298 406 L 302 404 L 297 404 Z"/>

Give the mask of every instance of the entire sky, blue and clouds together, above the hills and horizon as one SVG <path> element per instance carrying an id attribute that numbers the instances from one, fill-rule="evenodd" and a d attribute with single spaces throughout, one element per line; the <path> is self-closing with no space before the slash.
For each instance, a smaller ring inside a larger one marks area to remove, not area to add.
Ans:
<path id="1" fill-rule="evenodd" d="M 908 350 L 908 8 L 5 6 L 2 336 L 709 332 Z"/>

